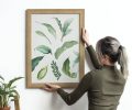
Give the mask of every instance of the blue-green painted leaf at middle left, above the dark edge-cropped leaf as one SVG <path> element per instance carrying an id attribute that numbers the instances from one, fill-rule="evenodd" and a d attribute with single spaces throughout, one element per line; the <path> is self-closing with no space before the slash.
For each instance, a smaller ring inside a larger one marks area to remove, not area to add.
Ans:
<path id="1" fill-rule="evenodd" d="M 45 45 L 40 45 L 35 50 L 37 50 L 38 52 L 41 52 L 43 54 L 50 54 L 50 53 L 52 54 L 52 50 Z"/>

